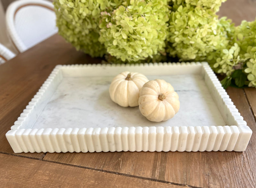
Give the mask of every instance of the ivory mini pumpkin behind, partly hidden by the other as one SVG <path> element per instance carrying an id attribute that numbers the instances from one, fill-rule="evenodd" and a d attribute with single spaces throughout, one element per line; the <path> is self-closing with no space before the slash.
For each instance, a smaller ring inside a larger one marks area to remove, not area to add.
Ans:
<path id="1" fill-rule="evenodd" d="M 140 90 L 146 82 L 148 78 L 143 74 L 122 72 L 110 84 L 110 98 L 120 106 L 138 106 Z"/>

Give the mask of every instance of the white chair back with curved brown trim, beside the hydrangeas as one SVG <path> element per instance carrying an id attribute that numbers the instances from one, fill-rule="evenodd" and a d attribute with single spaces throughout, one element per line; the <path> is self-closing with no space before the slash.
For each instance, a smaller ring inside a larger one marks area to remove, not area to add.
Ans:
<path id="1" fill-rule="evenodd" d="M 6 10 L 6 27 L 19 52 L 58 32 L 53 4 L 45 0 L 18 0 Z"/>

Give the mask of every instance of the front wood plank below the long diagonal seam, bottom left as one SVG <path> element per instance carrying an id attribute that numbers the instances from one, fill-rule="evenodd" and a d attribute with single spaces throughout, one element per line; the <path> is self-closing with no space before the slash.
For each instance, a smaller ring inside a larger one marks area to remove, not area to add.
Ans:
<path id="1" fill-rule="evenodd" d="M 1 187 L 181 187 L 7 154 L 0 164 Z"/>

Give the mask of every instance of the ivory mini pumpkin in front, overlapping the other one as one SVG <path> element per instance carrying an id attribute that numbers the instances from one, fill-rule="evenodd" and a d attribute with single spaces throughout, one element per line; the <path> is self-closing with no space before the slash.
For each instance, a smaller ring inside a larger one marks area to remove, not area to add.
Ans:
<path id="1" fill-rule="evenodd" d="M 179 111 L 179 96 L 170 83 L 151 80 L 140 90 L 139 109 L 150 121 L 166 121 Z"/>

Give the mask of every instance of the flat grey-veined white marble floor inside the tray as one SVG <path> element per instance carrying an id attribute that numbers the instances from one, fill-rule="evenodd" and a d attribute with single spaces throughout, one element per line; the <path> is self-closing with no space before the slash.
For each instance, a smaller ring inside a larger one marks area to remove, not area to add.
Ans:
<path id="1" fill-rule="evenodd" d="M 148 121 L 139 107 L 121 107 L 108 93 L 113 77 L 64 77 L 34 123 L 37 128 L 225 126 L 200 75 L 148 76 L 164 79 L 180 97 L 180 110 L 170 120 Z"/>

